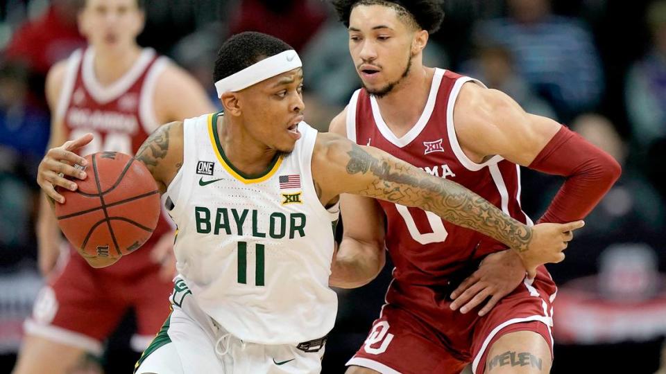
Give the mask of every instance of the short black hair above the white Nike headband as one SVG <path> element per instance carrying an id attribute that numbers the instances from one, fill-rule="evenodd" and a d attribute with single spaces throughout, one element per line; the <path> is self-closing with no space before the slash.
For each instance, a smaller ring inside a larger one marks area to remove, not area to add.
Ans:
<path id="1" fill-rule="evenodd" d="M 293 49 L 277 37 L 247 31 L 227 39 L 217 53 L 213 79 L 215 82 L 238 73 L 257 62 Z"/>

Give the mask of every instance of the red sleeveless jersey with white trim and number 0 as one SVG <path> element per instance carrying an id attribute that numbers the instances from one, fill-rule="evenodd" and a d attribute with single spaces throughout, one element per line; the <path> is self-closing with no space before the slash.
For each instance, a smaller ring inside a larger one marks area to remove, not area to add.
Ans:
<path id="1" fill-rule="evenodd" d="M 520 208 L 519 166 L 500 156 L 475 163 L 458 143 L 454 104 L 463 83 L 470 81 L 474 80 L 436 69 L 425 109 L 416 125 L 400 138 L 382 119 L 375 98 L 359 89 L 348 107 L 348 137 L 431 175 L 455 181 L 516 220 L 530 222 Z M 400 283 L 442 285 L 447 276 L 470 260 L 506 248 L 477 231 L 445 222 L 432 212 L 378 201 L 386 213 L 386 245 L 395 265 L 393 277 Z"/>

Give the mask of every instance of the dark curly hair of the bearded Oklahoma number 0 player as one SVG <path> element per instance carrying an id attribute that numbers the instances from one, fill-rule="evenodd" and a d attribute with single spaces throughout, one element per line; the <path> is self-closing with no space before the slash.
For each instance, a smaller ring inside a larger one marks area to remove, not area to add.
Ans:
<path id="1" fill-rule="evenodd" d="M 349 16 L 355 6 L 380 5 L 395 9 L 398 15 L 409 17 L 428 33 L 436 33 L 444 19 L 441 0 L 332 0 L 338 18 L 349 27 Z"/>

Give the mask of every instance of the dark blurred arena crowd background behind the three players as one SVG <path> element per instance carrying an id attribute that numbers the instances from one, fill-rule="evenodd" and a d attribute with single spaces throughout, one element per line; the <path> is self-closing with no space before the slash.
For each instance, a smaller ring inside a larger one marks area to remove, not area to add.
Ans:
<path id="1" fill-rule="evenodd" d="M 49 139 L 44 78 L 83 46 L 80 0 L 0 0 L 0 373 L 42 285 L 36 267 L 37 164 Z M 559 287 L 553 373 L 655 373 L 666 335 L 666 0 L 445 0 L 425 64 L 452 69 L 556 118 L 622 164 L 622 177 L 587 218 Z M 347 32 L 323 0 L 148 0 L 139 44 L 193 73 L 215 100 L 223 40 L 244 30 L 284 39 L 305 64 L 306 119 L 325 130 L 359 87 Z M 561 179 L 524 170 L 522 204 L 538 218 Z M 365 339 L 390 278 L 339 292 L 324 373 Z M 167 301 L 165 300 L 165 308 Z M 130 314 L 91 372 L 130 373 Z M 666 364 L 663 373 L 666 373 Z"/>

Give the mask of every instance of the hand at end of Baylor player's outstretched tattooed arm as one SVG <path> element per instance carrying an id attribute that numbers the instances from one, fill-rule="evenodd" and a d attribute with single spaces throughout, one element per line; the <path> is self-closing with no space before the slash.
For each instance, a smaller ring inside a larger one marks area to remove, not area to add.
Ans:
<path id="1" fill-rule="evenodd" d="M 574 238 L 574 230 L 585 226 L 583 221 L 565 224 L 542 223 L 532 227 L 532 238 L 527 249 L 519 252 L 527 276 L 536 275 L 536 267 L 547 263 L 557 263 L 564 260 L 564 250 Z"/>

